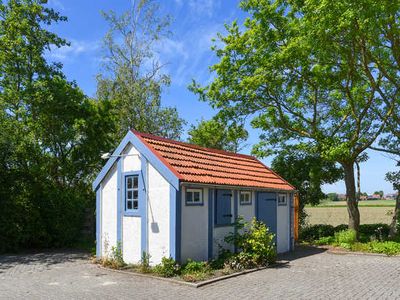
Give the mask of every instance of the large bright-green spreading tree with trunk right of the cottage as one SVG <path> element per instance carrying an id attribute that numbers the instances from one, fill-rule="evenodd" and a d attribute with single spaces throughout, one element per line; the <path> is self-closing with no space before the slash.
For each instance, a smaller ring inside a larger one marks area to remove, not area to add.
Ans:
<path id="1" fill-rule="evenodd" d="M 385 130 L 399 91 L 395 1 L 244 0 L 219 35 L 211 84 L 192 90 L 232 119 L 253 116 L 255 153 L 298 144 L 344 171 L 349 228 L 360 216 L 354 164 Z M 389 45 L 389 46 L 388 46 Z"/>

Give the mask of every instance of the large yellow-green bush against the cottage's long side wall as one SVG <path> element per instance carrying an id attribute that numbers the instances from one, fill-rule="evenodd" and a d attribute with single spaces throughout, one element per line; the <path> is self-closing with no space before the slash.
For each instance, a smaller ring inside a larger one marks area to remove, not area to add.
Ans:
<path id="1" fill-rule="evenodd" d="M 249 224 L 238 218 L 234 226 L 236 234 L 230 233 L 224 239 L 225 242 L 235 245 L 240 251 L 228 260 L 231 268 L 266 266 L 275 261 L 275 235 L 263 222 L 253 218 Z"/>

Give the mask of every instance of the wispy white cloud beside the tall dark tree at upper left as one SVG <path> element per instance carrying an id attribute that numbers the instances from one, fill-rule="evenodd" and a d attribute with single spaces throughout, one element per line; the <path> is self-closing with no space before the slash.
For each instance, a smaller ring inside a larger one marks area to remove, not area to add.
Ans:
<path id="1" fill-rule="evenodd" d="M 61 48 L 52 48 L 49 56 L 58 61 L 73 60 L 82 54 L 93 54 L 100 48 L 97 41 L 79 41 L 70 40 L 70 46 L 63 46 Z"/>

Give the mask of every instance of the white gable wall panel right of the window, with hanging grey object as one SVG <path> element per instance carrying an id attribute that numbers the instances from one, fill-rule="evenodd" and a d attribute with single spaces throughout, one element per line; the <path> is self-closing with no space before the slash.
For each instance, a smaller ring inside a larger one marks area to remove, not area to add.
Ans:
<path id="1" fill-rule="evenodd" d="M 148 249 L 151 264 L 170 256 L 170 184 L 151 165 L 148 165 Z"/>

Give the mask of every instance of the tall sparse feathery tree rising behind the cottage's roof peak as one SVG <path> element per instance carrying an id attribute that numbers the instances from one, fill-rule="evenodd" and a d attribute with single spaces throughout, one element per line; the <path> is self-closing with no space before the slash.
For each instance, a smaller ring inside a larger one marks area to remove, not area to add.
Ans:
<path id="1" fill-rule="evenodd" d="M 121 16 L 103 12 L 110 24 L 104 38 L 104 73 L 98 76 L 97 97 L 110 101 L 117 120 L 115 143 L 135 130 L 178 139 L 185 122 L 176 108 L 162 107 L 162 88 L 170 83 L 154 57 L 154 46 L 168 35 L 168 17 L 160 17 L 151 0 L 134 2 Z"/>

